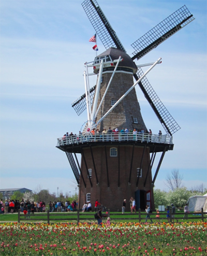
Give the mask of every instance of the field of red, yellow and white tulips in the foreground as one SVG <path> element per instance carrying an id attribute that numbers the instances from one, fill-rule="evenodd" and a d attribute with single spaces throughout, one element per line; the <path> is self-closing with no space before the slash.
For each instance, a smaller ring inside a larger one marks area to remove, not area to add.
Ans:
<path id="1" fill-rule="evenodd" d="M 0 255 L 207 255 L 207 222 L 1 223 Z"/>

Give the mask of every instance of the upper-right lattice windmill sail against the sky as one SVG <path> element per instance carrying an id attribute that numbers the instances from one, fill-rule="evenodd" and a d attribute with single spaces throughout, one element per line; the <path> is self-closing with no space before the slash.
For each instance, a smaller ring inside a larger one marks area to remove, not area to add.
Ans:
<path id="1" fill-rule="evenodd" d="M 184 5 L 131 45 L 135 49 L 131 59 L 139 60 L 194 19 Z"/>

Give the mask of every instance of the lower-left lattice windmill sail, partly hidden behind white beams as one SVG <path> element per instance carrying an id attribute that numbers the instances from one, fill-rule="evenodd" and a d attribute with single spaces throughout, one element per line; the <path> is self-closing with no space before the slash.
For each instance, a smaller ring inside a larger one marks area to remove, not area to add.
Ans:
<path id="1" fill-rule="evenodd" d="M 93 102 L 95 89 L 96 89 L 96 86 L 94 86 L 90 89 L 91 104 Z M 80 116 L 81 113 L 87 108 L 85 93 L 82 96 L 80 96 L 79 98 L 77 98 L 75 102 L 72 103 L 72 107 L 75 109 L 77 115 Z"/>

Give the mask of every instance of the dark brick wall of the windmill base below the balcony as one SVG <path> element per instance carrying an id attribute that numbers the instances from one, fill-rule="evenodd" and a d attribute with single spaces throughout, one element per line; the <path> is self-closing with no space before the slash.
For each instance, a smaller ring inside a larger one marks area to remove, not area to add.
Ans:
<path id="1" fill-rule="evenodd" d="M 115 146 L 118 150 L 118 146 Z M 114 147 L 114 146 L 113 146 Z M 132 150 L 133 146 L 120 146 L 120 182 L 119 182 L 119 157 L 110 157 L 110 146 L 106 147 L 107 151 L 107 163 L 108 163 L 108 178 L 107 178 L 107 165 L 106 165 L 106 154 L 105 154 L 105 146 L 93 147 L 93 156 L 95 161 L 96 172 L 98 176 L 98 184 L 96 182 L 95 169 L 93 165 L 92 155 L 90 148 L 84 149 L 85 160 L 87 164 L 87 168 L 92 169 L 92 184 L 91 187 L 90 180 L 87 177 L 87 170 L 85 167 L 85 163 L 82 159 L 81 161 L 81 170 L 83 172 L 83 177 L 86 182 L 86 188 L 84 187 L 82 179 L 80 180 L 80 188 L 79 188 L 79 205 L 82 205 L 86 201 L 86 194 L 91 193 L 91 203 L 94 207 L 95 201 L 98 201 L 110 208 L 113 211 L 121 211 L 123 200 L 126 199 L 127 206 L 126 210 L 129 210 L 129 199 L 131 196 L 135 197 L 135 191 L 144 190 L 151 191 L 152 199 L 151 205 L 154 205 L 153 201 L 153 189 L 151 186 L 152 183 L 152 174 L 151 169 L 149 174 L 147 175 L 146 184 L 144 187 L 144 181 L 147 173 L 147 169 L 150 164 L 150 152 L 149 149 L 146 148 L 144 151 L 144 158 L 142 162 L 142 177 L 139 178 L 138 187 L 137 183 L 137 168 L 140 167 L 141 158 L 143 154 L 144 147 L 134 147 L 134 157 L 132 160 Z M 132 168 L 131 168 L 132 167 Z M 131 179 L 129 183 L 130 176 L 130 168 L 131 168 Z M 109 179 L 109 186 L 108 186 Z M 119 186 L 120 183 L 120 186 Z M 146 198 L 140 198 L 144 201 Z"/>

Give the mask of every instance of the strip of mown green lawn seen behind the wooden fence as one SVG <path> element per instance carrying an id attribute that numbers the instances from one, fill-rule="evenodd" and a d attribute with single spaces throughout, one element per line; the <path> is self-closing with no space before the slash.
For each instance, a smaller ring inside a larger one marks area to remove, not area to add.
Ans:
<path id="1" fill-rule="evenodd" d="M 94 222 L 94 212 L 80 212 L 80 222 Z M 105 214 L 105 213 L 104 213 Z M 146 214 L 141 212 L 141 222 L 145 221 Z M 162 215 L 160 212 L 159 222 L 167 222 L 166 212 Z M 188 215 L 188 220 L 183 220 L 184 213 L 177 212 L 175 215 L 175 222 L 189 222 L 189 221 L 201 221 L 200 215 Z M 156 217 L 156 212 L 151 214 L 151 218 Z M 121 214 L 120 212 L 110 212 L 111 222 L 139 222 L 139 214 L 130 214 L 130 212 L 125 212 Z M 104 222 L 107 218 L 104 218 Z M 206 216 L 205 216 L 206 220 Z M 18 214 L 3 214 L 0 215 L 0 221 L 5 222 L 18 222 Z M 35 215 L 30 215 L 29 219 L 24 218 L 24 214 L 20 215 L 20 222 L 47 222 L 47 212 L 35 213 Z M 150 220 L 147 220 L 149 222 Z M 157 219 L 153 219 L 153 222 L 157 222 Z M 77 222 L 77 212 L 50 212 L 50 222 Z"/>

